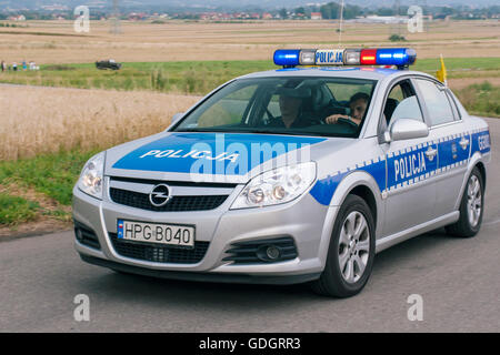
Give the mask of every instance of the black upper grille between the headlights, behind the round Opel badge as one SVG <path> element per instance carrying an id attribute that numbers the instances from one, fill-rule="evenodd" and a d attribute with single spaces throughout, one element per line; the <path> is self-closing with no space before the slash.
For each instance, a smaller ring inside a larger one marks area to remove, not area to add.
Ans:
<path id="1" fill-rule="evenodd" d="M 172 196 L 166 205 L 157 207 L 151 204 L 151 202 L 149 201 L 149 194 L 146 193 L 114 187 L 110 187 L 109 192 L 111 200 L 114 203 L 154 212 L 214 210 L 220 206 L 226 201 L 226 199 L 228 199 L 228 195 Z"/>

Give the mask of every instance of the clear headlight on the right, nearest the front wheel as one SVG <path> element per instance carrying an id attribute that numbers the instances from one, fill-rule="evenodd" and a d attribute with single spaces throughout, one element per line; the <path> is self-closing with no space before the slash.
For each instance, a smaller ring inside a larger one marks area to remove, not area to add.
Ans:
<path id="1" fill-rule="evenodd" d="M 282 166 L 253 178 L 232 203 L 231 210 L 269 206 L 292 201 L 316 180 L 316 163 Z"/>

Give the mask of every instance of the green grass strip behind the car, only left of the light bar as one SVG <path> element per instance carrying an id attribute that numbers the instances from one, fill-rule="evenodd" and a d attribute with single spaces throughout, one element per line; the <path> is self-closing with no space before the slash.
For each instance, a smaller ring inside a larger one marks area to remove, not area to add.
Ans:
<path id="1" fill-rule="evenodd" d="M 123 63 L 119 71 L 98 70 L 93 63 L 57 64 L 42 65 L 38 72 L 3 73 L 0 82 L 204 94 L 234 77 L 273 68 L 268 61 L 136 62 Z"/>

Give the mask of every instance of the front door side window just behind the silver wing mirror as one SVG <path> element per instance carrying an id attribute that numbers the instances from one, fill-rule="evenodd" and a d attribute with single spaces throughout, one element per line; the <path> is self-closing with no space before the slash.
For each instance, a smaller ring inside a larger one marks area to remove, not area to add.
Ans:
<path id="1" fill-rule="evenodd" d="M 398 83 L 391 89 L 383 108 L 383 115 L 388 126 L 399 119 L 412 119 L 423 122 L 422 111 L 413 87 L 409 81 Z"/>

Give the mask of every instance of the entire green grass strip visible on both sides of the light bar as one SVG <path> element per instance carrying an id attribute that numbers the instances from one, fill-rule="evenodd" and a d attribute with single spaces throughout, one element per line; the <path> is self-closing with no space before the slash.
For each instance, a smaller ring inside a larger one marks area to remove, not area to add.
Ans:
<path id="1" fill-rule="evenodd" d="M 450 79 L 500 77 L 498 58 L 448 58 Z M 418 60 L 413 70 L 434 74 L 438 59 Z M 97 70 L 93 63 L 47 64 L 40 71 L 6 72 L 0 82 L 80 89 L 153 90 L 206 94 L 226 81 L 254 71 L 272 70 L 271 61 L 184 61 L 123 63 L 119 71 Z"/>

